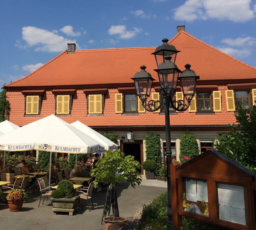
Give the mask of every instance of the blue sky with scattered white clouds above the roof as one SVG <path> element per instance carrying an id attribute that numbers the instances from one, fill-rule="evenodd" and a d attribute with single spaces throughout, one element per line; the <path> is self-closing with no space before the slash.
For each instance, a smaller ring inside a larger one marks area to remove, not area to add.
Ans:
<path id="1" fill-rule="evenodd" d="M 67 43 L 156 47 L 184 20 L 189 34 L 256 67 L 256 0 L 1 0 L 0 8 L 0 86 L 27 76 Z"/>

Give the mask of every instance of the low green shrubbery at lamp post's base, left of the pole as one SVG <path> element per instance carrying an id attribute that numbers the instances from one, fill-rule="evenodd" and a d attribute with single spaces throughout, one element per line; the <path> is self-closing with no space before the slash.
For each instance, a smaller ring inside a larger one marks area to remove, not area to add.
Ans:
<path id="1" fill-rule="evenodd" d="M 167 192 L 165 192 L 157 196 L 150 204 L 143 205 L 141 220 L 147 223 L 147 228 L 166 229 L 167 199 Z"/>

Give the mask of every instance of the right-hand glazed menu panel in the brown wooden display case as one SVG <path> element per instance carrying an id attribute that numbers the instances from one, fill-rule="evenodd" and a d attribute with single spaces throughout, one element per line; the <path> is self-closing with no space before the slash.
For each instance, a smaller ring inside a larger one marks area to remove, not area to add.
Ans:
<path id="1" fill-rule="evenodd" d="M 244 187 L 218 183 L 219 219 L 246 225 Z"/>

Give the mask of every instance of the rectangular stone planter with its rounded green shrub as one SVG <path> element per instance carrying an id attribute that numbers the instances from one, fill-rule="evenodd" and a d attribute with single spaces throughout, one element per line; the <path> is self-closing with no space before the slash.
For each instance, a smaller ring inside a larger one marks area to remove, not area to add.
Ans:
<path id="1" fill-rule="evenodd" d="M 73 196 L 74 186 L 69 180 L 62 180 L 58 184 L 58 188 L 52 192 L 51 200 L 53 202 L 53 213 L 68 212 L 69 216 L 73 216 L 79 196 Z"/>

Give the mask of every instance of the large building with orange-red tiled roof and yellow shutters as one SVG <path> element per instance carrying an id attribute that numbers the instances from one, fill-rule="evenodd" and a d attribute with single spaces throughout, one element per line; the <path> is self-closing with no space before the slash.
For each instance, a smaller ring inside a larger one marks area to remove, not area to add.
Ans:
<path id="1" fill-rule="evenodd" d="M 183 133 L 196 136 L 200 151 L 212 147 L 212 139 L 228 131 L 235 122 L 235 103 L 256 105 L 256 68 L 179 31 L 169 42 L 177 50 L 175 64 L 180 70 L 191 64 L 200 76 L 193 105 L 185 112 L 170 111 L 173 153 L 179 155 Z M 4 87 L 10 102 L 9 121 L 19 126 L 56 114 L 68 123 L 76 120 L 103 133 L 118 135 L 121 150 L 133 152 L 145 160 L 145 134 L 160 135 L 165 146 L 165 116 L 140 108 L 131 78 L 146 65 L 158 79 L 156 47 L 63 51 L 28 76 Z M 153 83 L 152 95 L 159 98 L 159 82 Z M 125 106 L 126 105 L 126 106 Z M 134 133 L 127 140 L 127 133 Z"/>

